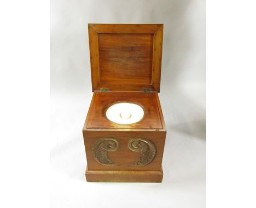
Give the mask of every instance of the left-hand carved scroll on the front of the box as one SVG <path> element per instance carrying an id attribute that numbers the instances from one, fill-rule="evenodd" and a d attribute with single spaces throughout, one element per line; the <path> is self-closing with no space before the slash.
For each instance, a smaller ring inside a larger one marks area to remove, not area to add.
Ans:
<path id="1" fill-rule="evenodd" d="M 96 141 L 92 147 L 92 154 L 98 163 L 105 166 L 118 166 L 108 158 L 108 151 L 117 151 L 119 149 L 119 142 L 114 138 L 101 138 Z"/>

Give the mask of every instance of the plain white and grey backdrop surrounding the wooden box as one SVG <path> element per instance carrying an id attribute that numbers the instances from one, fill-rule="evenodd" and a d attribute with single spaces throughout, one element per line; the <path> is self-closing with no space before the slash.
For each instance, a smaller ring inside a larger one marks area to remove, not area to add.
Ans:
<path id="1" fill-rule="evenodd" d="M 51 206 L 205 207 L 204 0 L 51 0 Z M 82 127 L 91 92 L 88 23 L 164 23 L 162 183 L 85 181 Z"/>

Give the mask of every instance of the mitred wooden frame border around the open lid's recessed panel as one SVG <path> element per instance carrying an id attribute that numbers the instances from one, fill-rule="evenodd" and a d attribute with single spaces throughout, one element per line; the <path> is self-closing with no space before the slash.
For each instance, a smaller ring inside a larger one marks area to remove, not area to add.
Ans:
<path id="1" fill-rule="evenodd" d="M 91 81 L 92 91 L 99 91 L 102 88 L 110 88 L 112 91 L 141 91 L 150 89 L 160 91 L 161 78 L 161 59 L 162 59 L 162 36 L 163 24 L 88 24 L 90 62 L 91 62 Z M 153 57 L 152 57 L 152 77 L 148 85 L 118 87 L 118 89 L 101 84 L 98 34 L 153 34 Z"/>

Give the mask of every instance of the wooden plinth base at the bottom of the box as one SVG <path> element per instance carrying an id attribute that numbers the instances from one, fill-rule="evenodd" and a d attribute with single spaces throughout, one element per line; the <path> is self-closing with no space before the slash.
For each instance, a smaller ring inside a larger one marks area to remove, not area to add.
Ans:
<path id="1" fill-rule="evenodd" d="M 162 182 L 161 171 L 106 171 L 88 170 L 86 167 L 85 178 L 88 182 Z"/>

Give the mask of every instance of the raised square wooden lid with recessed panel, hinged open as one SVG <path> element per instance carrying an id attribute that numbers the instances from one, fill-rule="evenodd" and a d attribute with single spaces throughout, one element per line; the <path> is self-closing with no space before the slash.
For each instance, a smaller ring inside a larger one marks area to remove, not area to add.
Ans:
<path id="1" fill-rule="evenodd" d="M 160 91 L 162 24 L 88 24 L 92 91 Z"/>

